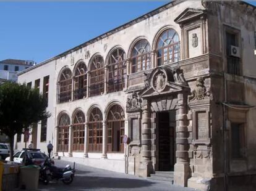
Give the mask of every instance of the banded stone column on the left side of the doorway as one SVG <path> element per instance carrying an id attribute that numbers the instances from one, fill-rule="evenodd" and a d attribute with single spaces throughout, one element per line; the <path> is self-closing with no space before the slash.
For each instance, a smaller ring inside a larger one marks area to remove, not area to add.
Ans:
<path id="1" fill-rule="evenodd" d="M 139 176 L 141 177 L 147 177 L 153 172 L 150 124 L 150 112 L 148 111 L 148 107 L 145 107 L 142 111 L 142 163 L 139 166 Z"/>

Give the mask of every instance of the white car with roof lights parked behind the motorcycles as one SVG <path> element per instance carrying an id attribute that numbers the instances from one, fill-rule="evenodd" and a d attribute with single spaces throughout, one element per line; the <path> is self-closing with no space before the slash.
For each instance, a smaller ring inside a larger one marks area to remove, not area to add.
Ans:
<path id="1" fill-rule="evenodd" d="M 25 152 L 27 152 L 29 158 L 32 158 L 35 165 L 40 165 L 43 161 L 45 161 L 45 158 L 47 157 L 45 153 L 40 152 L 40 149 L 26 149 L 20 150 L 14 154 L 14 162 L 23 163 Z M 10 157 L 7 157 L 6 161 L 10 161 Z"/>

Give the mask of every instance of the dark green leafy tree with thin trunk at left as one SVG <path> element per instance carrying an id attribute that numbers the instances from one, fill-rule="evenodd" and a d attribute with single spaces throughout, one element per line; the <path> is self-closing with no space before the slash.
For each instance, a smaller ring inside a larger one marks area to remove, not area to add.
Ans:
<path id="1" fill-rule="evenodd" d="M 10 140 L 10 160 L 14 155 L 14 136 L 50 116 L 47 100 L 38 89 L 7 82 L 0 85 L 0 130 Z"/>

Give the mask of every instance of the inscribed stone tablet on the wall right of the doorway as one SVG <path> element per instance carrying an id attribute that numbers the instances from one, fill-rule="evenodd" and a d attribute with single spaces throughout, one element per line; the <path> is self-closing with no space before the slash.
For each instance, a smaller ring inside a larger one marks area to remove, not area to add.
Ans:
<path id="1" fill-rule="evenodd" d="M 197 120 L 197 129 L 196 129 L 196 133 L 197 133 L 197 139 L 208 139 L 209 138 L 209 128 L 208 128 L 208 116 L 207 116 L 207 112 L 205 111 L 201 111 L 201 112 L 197 112 L 196 113 L 196 120 Z"/>

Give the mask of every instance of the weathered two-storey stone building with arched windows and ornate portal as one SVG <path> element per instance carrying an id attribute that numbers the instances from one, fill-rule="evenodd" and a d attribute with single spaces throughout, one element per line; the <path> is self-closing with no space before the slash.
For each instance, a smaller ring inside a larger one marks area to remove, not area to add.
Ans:
<path id="1" fill-rule="evenodd" d="M 46 126 L 65 160 L 253 190 L 255 15 L 245 2 L 176 0 L 28 68 L 19 82 L 40 79 L 52 114 L 32 139 Z"/>

